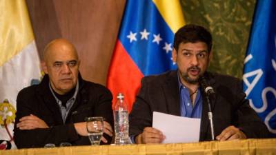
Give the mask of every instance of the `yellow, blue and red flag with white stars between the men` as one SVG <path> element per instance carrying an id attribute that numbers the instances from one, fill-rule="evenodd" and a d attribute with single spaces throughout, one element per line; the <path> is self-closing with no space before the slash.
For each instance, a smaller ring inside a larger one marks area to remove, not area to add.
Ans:
<path id="1" fill-rule="evenodd" d="M 178 0 L 126 1 L 107 86 L 115 100 L 119 92 L 125 95 L 129 112 L 143 76 L 176 69 L 171 56 L 173 37 L 183 25 Z"/>

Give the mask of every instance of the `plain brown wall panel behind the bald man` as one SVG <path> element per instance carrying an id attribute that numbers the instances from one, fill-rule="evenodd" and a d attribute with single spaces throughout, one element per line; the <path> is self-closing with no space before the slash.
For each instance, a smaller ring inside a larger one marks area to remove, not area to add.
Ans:
<path id="1" fill-rule="evenodd" d="M 106 84 L 125 0 L 26 0 L 39 56 L 56 38 L 76 46 L 83 79 Z"/>

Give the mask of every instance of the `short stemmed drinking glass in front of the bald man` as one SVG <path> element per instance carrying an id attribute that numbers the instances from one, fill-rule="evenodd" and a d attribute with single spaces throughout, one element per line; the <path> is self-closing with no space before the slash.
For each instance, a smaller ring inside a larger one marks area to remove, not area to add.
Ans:
<path id="1" fill-rule="evenodd" d="M 103 136 L 103 117 L 86 118 L 86 129 L 91 145 L 99 145 Z"/>

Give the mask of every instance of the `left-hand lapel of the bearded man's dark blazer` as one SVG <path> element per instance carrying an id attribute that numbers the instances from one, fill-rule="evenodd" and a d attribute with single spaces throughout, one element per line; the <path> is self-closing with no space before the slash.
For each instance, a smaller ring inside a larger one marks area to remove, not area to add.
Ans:
<path id="1" fill-rule="evenodd" d="M 177 71 L 168 74 L 163 85 L 164 96 L 168 114 L 180 116 L 179 85 L 177 83 Z"/>

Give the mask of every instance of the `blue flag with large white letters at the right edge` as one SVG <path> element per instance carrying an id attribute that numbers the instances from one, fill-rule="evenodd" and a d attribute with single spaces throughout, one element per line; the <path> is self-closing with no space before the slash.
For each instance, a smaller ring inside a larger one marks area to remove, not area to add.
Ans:
<path id="1" fill-rule="evenodd" d="M 276 1 L 257 1 L 244 65 L 250 105 L 276 137 Z"/>

